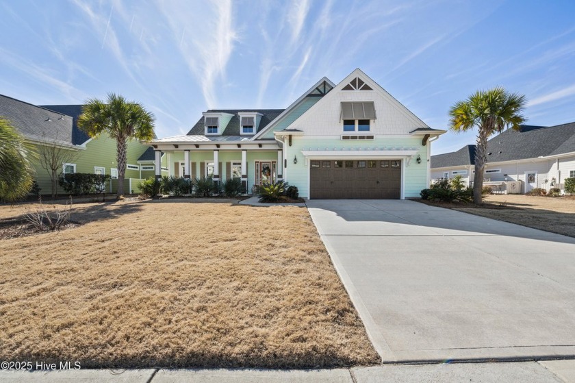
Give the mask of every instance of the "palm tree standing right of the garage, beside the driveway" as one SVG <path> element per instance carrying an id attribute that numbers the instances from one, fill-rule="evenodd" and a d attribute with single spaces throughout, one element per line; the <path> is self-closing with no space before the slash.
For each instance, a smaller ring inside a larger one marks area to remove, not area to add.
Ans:
<path id="1" fill-rule="evenodd" d="M 478 90 L 465 101 L 458 101 L 449 110 L 453 132 L 467 132 L 477 127 L 473 202 L 482 203 L 483 171 L 487 164 L 487 139 L 511 127 L 519 130 L 526 121 L 521 114 L 525 96 L 509 93 L 502 87 Z"/>

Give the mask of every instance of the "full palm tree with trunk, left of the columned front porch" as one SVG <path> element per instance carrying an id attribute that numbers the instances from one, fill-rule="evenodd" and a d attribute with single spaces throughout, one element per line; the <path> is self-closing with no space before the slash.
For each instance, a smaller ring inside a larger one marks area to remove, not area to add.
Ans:
<path id="1" fill-rule="evenodd" d="M 128 140 L 149 141 L 154 138 L 154 115 L 145 110 L 142 104 L 110 93 L 106 102 L 99 99 L 86 101 L 78 118 L 78 126 L 90 137 L 105 132 L 116 139 L 119 199 L 124 195 Z"/>

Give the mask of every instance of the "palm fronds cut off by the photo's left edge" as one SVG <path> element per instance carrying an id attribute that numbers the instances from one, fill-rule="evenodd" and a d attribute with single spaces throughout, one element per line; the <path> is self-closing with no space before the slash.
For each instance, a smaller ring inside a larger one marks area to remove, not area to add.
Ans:
<path id="1" fill-rule="evenodd" d="M 22 136 L 0 117 L 0 201 L 14 202 L 31 190 L 34 171 L 29 154 Z"/>

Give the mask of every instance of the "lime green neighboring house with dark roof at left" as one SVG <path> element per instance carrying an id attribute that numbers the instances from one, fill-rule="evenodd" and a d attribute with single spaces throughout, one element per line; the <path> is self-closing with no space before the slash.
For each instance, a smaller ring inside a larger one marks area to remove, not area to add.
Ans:
<path id="1" fill-rule="evenodd" d="M 8 119 L 16 127 L 28 143 L 35 146 L 40 153 L 41 147 L 57 145 L 64 149 L 63 162 L 59 173 L 99 173 L 111 175 L 112 181 L 107 188 L 115 192 L 118 177 L 116 167 L 116 140 L 101 135 L 90 138 L 77 127 L 77 119 L 81 114 L 81 105 L 36 106 L 31 103 L 0 95 L 0 116 Z M 128 167 L 126 170 L 125 190 L 137 191 L 140 178 L 151 177 L 154 169 L 146 170 L 138 160 L 146 153 L 149 145 L 143 145 L 138 140 L 128 144 Z M 41 194 L 51 193 L 49 172 L 43 169 L 39 156 L 31 158 L 36 174 L 35 180 L 42 189 Z M 165 162 L 165 161 L 164 161 Z M 167 172 L 166 172 L 167 174 Z M 59 193 L 62 193 L 59 188 Z"/>

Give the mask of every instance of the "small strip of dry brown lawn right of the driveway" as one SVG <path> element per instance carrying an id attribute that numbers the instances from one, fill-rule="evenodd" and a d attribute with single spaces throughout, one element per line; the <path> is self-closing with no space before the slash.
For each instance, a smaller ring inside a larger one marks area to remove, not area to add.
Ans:
<path id="1" fill-rule="evenodd" d="M 432 203 L 462 212 L 575 237 L 575 197 L 488 195 L 485 206 Z"/>

